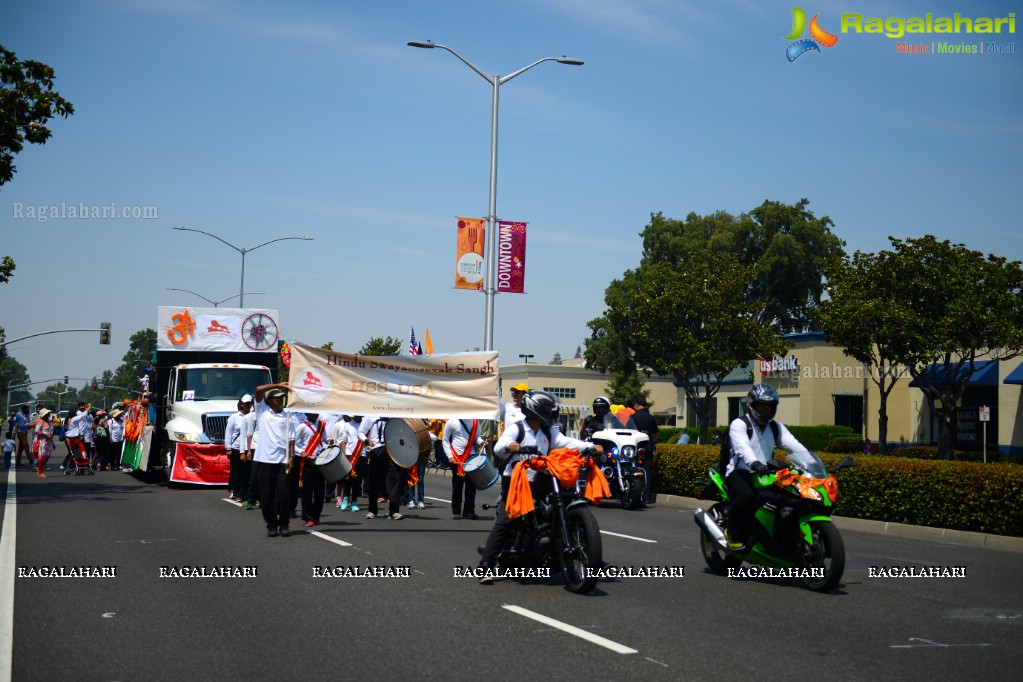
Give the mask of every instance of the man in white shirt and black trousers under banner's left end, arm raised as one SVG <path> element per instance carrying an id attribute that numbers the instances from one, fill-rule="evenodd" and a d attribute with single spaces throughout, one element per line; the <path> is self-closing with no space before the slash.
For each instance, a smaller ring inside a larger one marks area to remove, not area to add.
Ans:
<path id="1" fill-rule="evenodd" d="M 253 461 L 259 462 L 260 510 L 266 521 L 266 535 L 286 538 L 291 535 L 288 520 L 292 516 L 287 497 L 287 473 L 292 458 L 287 445 L 291 441 L 292 417 L 284 412 L 284 397 L 291 390 L 286 381 L 267 383 L 256 389 L 256 422 L 259 442 Z"/>

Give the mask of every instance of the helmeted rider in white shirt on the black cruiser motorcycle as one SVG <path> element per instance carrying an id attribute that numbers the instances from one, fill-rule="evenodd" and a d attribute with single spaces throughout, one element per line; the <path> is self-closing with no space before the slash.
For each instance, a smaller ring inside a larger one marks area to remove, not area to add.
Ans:
<path id="1" fill-rule="evenodd" d="M 607 399 L 605 399 L 607 400 Z M 610 407 L 610 403 L 608 403 Z M 497 519 L 494 527 L 487 536 L 487 544 L 483 548 L 483 557 L 480 559 L 480 567 L 484 570 L 484 575 L 480 583 L 487 584 L 494 581 L 488 575 L 488 570 L 493 570 L 497 564 L 497 555 L 500 554 L 504 543 L 511 537 L 510 524 L 504 502 L 508 498 L 508 488 L 511 485 L 511 472 L 515 465 L 524 457 L 516 454 L 520 449 L 535 447 L 541 455 L 546 455 L 550 450 L 558 448 L 570 448 L 573 450 L 585 450 L 593 448 L 597 453 L 603 452 L 598 445 L 577 441 L 568 438 L 555 427 L 558 415 L 561 408 L 558 400 L 549 393 L 543 391 L 531 391 L 522 399 L 521 405 L 525 420 L 514 426 L 505 428 L 501 437 L 494 444 L 494 454 L 498 457 L 507 457 L 507 465 L 501 473 L 501 506 L 497 509 Z M 530 482 L 536 471 L 527 471 Z"/>

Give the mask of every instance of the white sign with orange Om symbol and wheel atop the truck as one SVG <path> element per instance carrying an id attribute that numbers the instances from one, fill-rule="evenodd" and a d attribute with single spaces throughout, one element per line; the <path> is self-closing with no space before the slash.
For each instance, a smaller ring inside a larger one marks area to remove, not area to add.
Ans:
<path id="1" fill-rule="evenodd" d="M 277 311 L 160 306 L 161 351 L 267 351 L 276 348 Z"/>

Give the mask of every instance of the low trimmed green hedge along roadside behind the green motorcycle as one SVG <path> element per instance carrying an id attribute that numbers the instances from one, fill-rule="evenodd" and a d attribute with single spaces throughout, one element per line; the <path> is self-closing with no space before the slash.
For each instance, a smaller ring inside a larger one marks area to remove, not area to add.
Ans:
<path id="1" fill-rule="evenodd" d="M 656 490 L 699 497 L 717 462 L 716 446 L 657 449 Z M 831 468 L 846 455 L 820 452 Z M 1023 467 L 1009 463 L 930 461 L 857 455 L 835 474 L 836 515 L 1023 537 Z"/>

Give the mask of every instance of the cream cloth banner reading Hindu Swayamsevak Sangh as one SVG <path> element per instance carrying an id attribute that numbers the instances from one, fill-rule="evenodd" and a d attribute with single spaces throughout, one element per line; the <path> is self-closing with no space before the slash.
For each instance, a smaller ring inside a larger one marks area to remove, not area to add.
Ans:
<path id="1" fill-rule="evenodd" d="M 291 348 L 290 411 L 425 419 L 497 414 L 496 351 L 375 357 Z"/>

